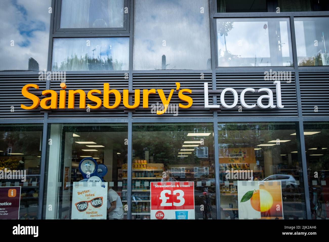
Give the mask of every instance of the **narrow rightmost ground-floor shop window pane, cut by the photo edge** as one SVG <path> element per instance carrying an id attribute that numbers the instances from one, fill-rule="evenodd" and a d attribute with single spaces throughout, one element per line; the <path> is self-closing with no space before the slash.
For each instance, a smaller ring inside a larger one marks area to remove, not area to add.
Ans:
<path id="1" fill-rule="evenodd" d="M 304 122 L 312 219 L 329 218 L 329 123 Z"/>

